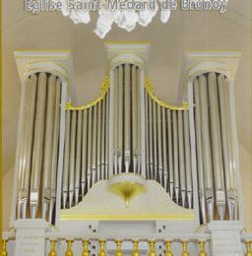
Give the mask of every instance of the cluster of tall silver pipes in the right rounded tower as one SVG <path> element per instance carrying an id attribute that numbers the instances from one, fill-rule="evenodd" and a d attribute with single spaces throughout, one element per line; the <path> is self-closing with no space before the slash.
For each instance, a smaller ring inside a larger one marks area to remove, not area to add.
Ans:
<path id="1" fill-rule="evenodd" d="M 193 81 L 199 202 L 203 223 L 237 220 L 228 79 L 206 73 Z"/>

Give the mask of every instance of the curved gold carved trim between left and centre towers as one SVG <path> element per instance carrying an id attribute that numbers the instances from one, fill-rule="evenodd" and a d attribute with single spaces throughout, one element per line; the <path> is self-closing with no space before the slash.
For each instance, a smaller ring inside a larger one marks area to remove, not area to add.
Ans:
<path id="1" fill-rule="evenodd" d="M 72 105 L 71 102 L 67 102 L 66 103 L 66 110 L 84 110 L 84 109 L 88 109 L 92 106 L 94 106 L 96 103 L 98 103 L 100 100 L 102 100 L 104 98 L 104 96 L 106 96 L 106 93 L 108 91 L 110 87 L 110 81 L 109 78 L 106 76 L 100 86 L 100 95 L 95 97 L 95 100 L 84 104 L 84 105 L 79 105 L 79 106 L 74 106 Z"/>

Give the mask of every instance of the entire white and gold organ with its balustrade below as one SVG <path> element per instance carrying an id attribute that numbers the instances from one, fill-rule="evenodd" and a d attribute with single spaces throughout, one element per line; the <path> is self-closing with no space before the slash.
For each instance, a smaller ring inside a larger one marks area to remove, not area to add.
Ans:
<path id="1" fill-rule="evenodd" d="M 171 104 L 149 76 L 150 47 L 105 43 L 100 92 L 84 104 L 71 100 L 70 52 L 15 52 L 14 228 L 2 253 L 241 256 L 245 244 L 249 253 L 233 96 L 239 52 L 185 53 Z"/>

